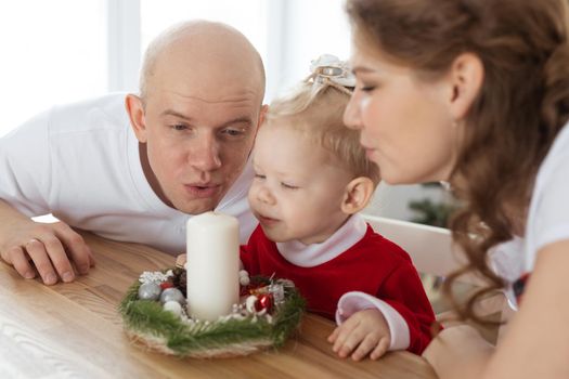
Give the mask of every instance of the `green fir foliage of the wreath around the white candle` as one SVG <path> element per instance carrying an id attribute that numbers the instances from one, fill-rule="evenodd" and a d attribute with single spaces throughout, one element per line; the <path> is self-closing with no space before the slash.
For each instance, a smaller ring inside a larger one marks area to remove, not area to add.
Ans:
<path id="1" fill-rule="evenodd" d="M 251 278 L 255 279 L 269 283 L 267 278 Z M 180 356 L 242 343 L 261 342 L 280 347 L 295 331 L 306 308 L 298 290 L 285 287 L 285 302 L 273 314 L 272 323 L 266 317 L 247 316 L 243 319 L 189 324 L 164 311 L 157 301 L 139 300 L 139 287 L 137 280 L 118 306 L 125 328 L 164 340 Z"/>

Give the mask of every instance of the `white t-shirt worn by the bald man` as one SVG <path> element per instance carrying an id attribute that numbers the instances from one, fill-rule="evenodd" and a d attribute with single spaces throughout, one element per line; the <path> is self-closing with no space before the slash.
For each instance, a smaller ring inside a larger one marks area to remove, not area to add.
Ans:
<path id="1" fill-rule="evenodd" d="M 250 161 L 216 211 L 240 221 L 247 241 L 257 221 L 247 204 Z M 125 94 L 54 107 L 0 139 L 0 198 L 28 217 L 53 213 L 107 238 L 185 251 L 191 217 L 150 186 Z"/>

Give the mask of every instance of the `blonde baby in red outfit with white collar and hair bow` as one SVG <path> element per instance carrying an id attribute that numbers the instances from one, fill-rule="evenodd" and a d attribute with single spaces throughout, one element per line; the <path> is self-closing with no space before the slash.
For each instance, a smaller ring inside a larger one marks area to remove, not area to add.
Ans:
<path id="1" fill-rule="evenodd" d="M 335 318 L 328 341 L 340 357 L 421 354 L 435 316 L 417 272 L 358 214 L 379 173 L 342 122 L 351 75 L 329 55 L 312 70 L 259 129 L 248 197 L 260 225 L 242 247 L 243 265 L 292 279 L 309 311 Z"/>

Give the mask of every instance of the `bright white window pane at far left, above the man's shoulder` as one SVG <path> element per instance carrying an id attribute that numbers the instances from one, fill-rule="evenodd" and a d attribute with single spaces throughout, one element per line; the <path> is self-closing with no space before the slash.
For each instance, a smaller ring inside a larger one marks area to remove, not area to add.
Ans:
<path id="1" fill-rule="evenodd" d="M 55 103 L 106 91 L 105 4 L 0 2 L 0 136 Z"/>

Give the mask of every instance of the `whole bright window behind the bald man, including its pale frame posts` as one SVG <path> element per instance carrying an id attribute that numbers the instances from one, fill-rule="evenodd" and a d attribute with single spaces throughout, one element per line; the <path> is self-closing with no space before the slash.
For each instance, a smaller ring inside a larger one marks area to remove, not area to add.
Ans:
<path id="1" fill-rule="evenodd" d="M 174 23 L 230 24 L 257 48 L 267 96 L 323 53 L 349 53 L 344 0 L 18 0 L 0 2 L 0 136 L 56 103 L 137 91 L 142 52 Z"/>

